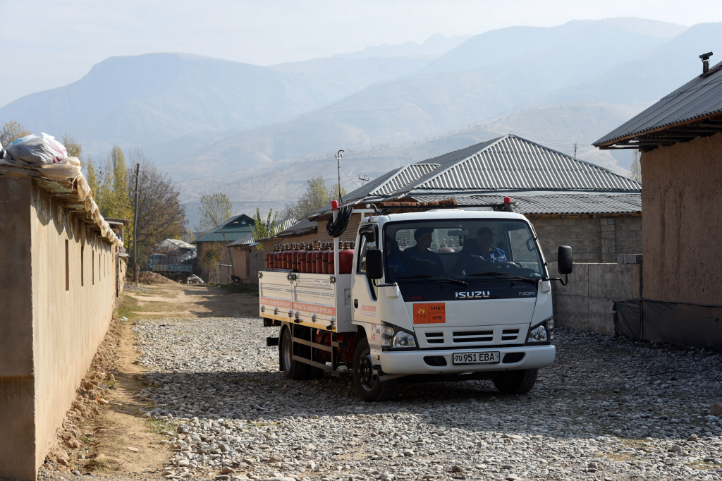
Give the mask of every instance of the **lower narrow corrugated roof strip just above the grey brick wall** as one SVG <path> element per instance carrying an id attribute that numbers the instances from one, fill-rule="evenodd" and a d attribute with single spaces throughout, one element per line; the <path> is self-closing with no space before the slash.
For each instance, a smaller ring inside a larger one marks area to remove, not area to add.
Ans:
<path id="1" fill-rule="evenodd" d="M 414 196 L 419 202 L 439 201 L 448 196 Z M 500 195 L 456 195 L 453 199 L 461 205 L 500 204 Z M 640 214 L 642 194 L 566 194 L 512 196 L 520 214 Z"/>

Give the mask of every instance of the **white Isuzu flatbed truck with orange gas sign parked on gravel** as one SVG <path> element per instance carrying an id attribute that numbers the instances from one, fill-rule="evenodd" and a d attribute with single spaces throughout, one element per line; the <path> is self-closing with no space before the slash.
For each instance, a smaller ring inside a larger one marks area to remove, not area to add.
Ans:
<path id="1" fill-rule="evenodd" d="M 352 376 L 366 401 L 429 376 L 531 390 L 554 362 L 551 282 L 561 279 L 529 220 L 499 210 L 365 209 L 350 274 L 339 274 L 338 239 L 333 273 L 259 272 L 260 316 L 281 326 L 266 342 L 279 346 L 279 368 L 290 379 Z M 570 247 L 558 263 L 571 272 Z"/>

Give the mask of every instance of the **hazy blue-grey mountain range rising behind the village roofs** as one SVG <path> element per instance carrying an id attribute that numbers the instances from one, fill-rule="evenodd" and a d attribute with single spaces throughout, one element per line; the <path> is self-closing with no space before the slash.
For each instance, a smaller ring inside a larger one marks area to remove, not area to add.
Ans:
<path id="1" fill-rule="evenodd" d="M 722 24 L 638 18 L 508 27 L 254 66 L 175 53 L 108 58 L 15 100 L 0 120 L 71 134 L 102 157 L 141 147 L 190 207 L 225 191 L 238 212 L 282 207 L 318 173 L 352 190 L 408 162 L 513 133 L 620 173 L 591 142 L 701 71 Z M 333 168 L 331 168 L 333 167 Z"/>

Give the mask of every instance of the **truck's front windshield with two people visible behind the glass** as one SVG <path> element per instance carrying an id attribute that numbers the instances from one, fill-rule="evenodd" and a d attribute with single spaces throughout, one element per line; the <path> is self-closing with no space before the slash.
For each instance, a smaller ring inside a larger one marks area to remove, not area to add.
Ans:
<path id="1" fill-rule="evenodd" d="M 523 220 L 391 222 L 383 250 L 388 282 L 544 277 L 539 248 Z"/>

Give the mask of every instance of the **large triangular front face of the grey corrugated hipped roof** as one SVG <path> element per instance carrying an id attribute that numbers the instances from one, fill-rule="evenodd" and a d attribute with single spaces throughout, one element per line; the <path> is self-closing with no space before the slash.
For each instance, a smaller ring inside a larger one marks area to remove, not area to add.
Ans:
<path id="1" fill-rule="evenodd" d="M 465 149 L 469 152 L 469 149 Z M 422 178 L 409 195 L 429 191 L 639 191 L 611 170 L 508 134 Z"/>

